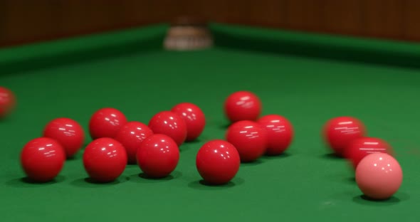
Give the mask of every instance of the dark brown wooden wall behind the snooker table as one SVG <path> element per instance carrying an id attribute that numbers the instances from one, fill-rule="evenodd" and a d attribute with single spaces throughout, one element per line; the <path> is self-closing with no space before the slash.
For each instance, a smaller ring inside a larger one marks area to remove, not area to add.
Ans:
<path id="1" fill-rule="evenodd" d="M 0 46 L 186 14 L 221 23 L 420 41 L 419 0 L 0 0 Z"/>

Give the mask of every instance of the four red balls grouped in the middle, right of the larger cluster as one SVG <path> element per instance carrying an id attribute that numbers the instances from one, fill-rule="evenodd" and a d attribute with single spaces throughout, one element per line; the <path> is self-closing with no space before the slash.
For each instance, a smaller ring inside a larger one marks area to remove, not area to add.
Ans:
<path id="1" fill-rule="evenodd" d="M 280 155 L 293 140 L 293 126 L 281 115 L 261 117 L 262 102 L 254 93 L 238 91 L 227 97 L 224 113 L 230 125 L 224 139 L 206 142 L 196 156 L 199 174 L 208 184 L 226 184 L 241 162 L 263 155 Z"/>

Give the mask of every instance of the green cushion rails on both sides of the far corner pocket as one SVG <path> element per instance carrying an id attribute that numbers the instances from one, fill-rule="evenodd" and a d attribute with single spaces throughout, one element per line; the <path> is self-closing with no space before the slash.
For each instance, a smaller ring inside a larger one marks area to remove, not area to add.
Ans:
<path id="1" fill-rule="evenodd" d="M 169 25 L 157 23 L 0 49 L 0 75 L 129 53 L 164 50 Z M 420 68 L 420 43 L 210 23 L 217 48 Z"/>

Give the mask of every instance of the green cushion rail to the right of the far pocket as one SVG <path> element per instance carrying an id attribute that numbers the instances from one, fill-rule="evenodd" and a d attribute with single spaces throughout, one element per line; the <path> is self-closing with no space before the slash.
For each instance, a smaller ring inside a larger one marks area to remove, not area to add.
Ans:
<path id="1" fill-rule="evenodd" d="M 420 68 L 420 43 L 211 23 L 218 47 Z"/>

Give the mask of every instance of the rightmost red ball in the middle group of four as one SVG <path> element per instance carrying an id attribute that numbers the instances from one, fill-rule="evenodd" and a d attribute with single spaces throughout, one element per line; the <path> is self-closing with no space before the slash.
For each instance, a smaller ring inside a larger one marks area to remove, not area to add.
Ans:
<path id="1" fill-rule="evenodd" d="M 279 155 L 288 149 L 293 140 L 293 126 L 288 119 L 280 115 L 266 115 L 258 123 L 267 130 L 266 154 Z"/>

